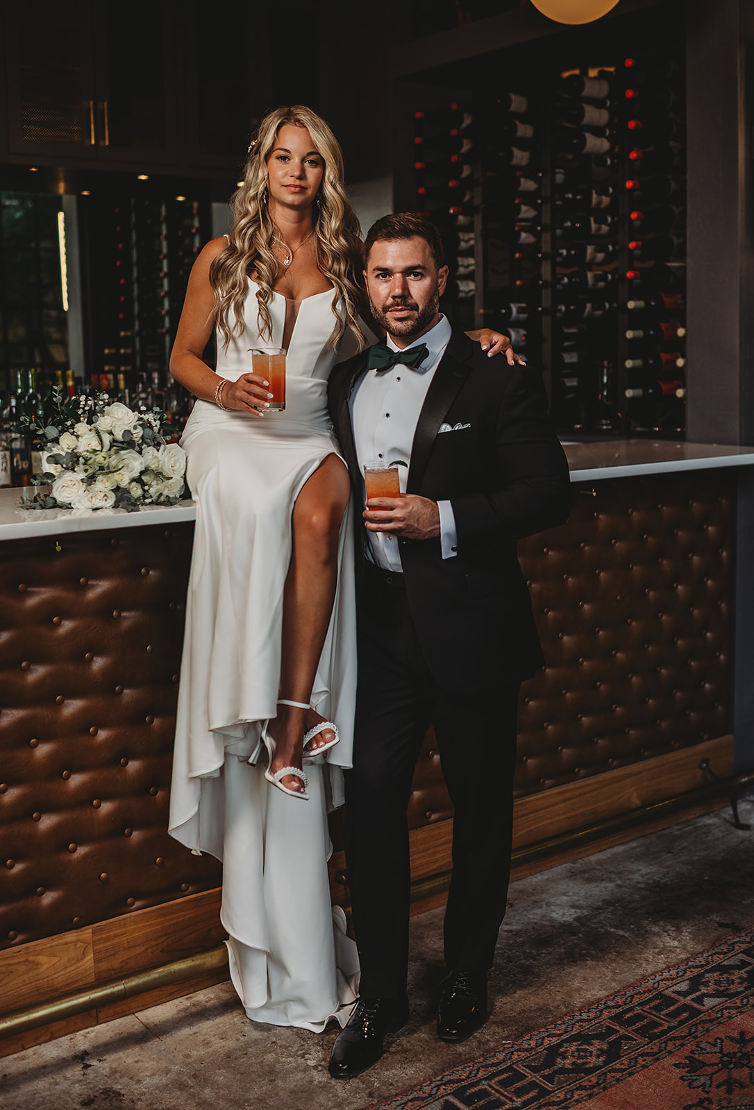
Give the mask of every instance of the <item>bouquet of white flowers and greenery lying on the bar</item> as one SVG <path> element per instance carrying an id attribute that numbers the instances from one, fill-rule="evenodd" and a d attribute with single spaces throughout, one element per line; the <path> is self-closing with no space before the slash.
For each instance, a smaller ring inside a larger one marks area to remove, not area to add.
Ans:
<path id="1" fill-rule="evenodd" d="M 107 393 L 58 393 L 53 422 L 24 421 L 24 434 L 40 452 L 40 488 L 27 508 L 124 508 L 174 505 L 183 494 L 185 453 L 167 443 L 170 427 L 160 408 L 133 412 Z"/>

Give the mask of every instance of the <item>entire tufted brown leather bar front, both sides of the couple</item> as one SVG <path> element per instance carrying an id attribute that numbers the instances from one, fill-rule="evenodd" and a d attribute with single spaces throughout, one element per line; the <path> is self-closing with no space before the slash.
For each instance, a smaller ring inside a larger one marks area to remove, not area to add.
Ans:
<path id="1" fill-rule="evenodd" d="M 520 545 L 549 662 L 523 687 L 520 797 L 726 731 L 733 482 L 580 487 L 566 526 Z M 220 882 L 165 831 L 191 537 L 0 544 L 2 948 Z M 451 816 L 430 730 L 410 825 Z"/>

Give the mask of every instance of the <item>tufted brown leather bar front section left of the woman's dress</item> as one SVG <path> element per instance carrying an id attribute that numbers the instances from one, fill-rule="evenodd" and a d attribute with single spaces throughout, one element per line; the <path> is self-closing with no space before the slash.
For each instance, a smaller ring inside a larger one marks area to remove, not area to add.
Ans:
<path id="1" fill-rule="evenodd" d="M 192 524 L 0 544 L 0 946 L 214 887 L 168 836 Z"/>

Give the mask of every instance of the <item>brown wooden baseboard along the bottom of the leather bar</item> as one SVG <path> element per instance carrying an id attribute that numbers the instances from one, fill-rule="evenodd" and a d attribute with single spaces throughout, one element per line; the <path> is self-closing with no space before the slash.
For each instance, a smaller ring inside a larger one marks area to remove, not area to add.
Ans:
<path id="1" fill-rule="evenodd" d="M 732 775 L 733 737 L 722 736 L 693 748 L 684 748 L 642 764 L 520 798 L 514 805 L 514 850 L 702 786 L 704 775 L 698 767 L 702 758 L 710 759 L 721 778 Z M 514 866 L 512 877 L 522 878 L 567 859 L 576 859 L 720 805 L 717 800 L 697 805 L 680 816 L 670 815 L 639 829 L 624 830 L 590 845 L 566 849 L 546 860 L 517 868 Z M 411 831 L 411 871 L 414 881 L 450 870 L 452 830 L 452 820 L 445 820 Z M 344 871 L 344 864 L 342 852 L 333 856 L 330 861 L 333 901 L 340 905 L 348 905 L 348 888 L 342 879 L 336 878 L 339 872 Z M 444 900 L 444 894 L 433 892 L 412 906 L 412 915 L 441 906 Z M 0 952 L 0 1013 L 12 1013 L 73 991 L 207 951 L 221 944 L 224 937 L 220 925 L 220 890 L 215 889 L 58 937 L 31 941 L 20 948 L 6 949 Z M 220 970 L 31 1030 L 0 1041 L 0 1056 L 169 1001 L 227 978 L 228 971 Z"/>

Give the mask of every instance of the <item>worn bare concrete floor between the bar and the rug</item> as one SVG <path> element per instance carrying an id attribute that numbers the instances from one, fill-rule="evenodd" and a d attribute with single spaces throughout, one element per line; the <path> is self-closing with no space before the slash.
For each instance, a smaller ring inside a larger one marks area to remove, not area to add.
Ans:
<path id="1" fill-rule="evenodd" d="M 740 810 L 754 825 L 753 795 Z M 251 1022 L 223 983 L 0 1059 L 0 1107 L 363 1110 L 751 928 L 753 848 L 721 809 L 514 884 L 492 1017 L 463 1045 L 434 1036 L 436 910 L 413 921 L 411 1023 L 349 1083 L 328 1076 L 334 1028 Z"/>

